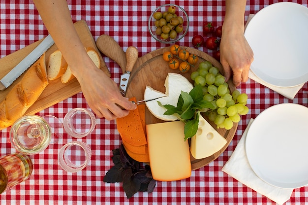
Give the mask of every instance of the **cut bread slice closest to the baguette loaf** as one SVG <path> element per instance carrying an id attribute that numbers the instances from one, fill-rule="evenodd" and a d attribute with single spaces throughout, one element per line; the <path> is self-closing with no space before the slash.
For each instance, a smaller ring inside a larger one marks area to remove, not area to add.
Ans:
<path id="1" fill-rule="evenodd" d="M 47 77 L 49 80 L 61 77 L 67 68 L 66 60 L 64 59 L 60 50 L 51 53 L 47 64 Z"/>

